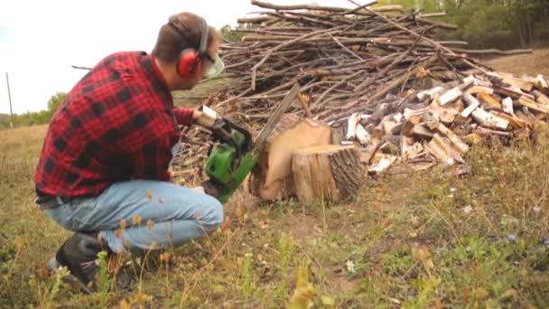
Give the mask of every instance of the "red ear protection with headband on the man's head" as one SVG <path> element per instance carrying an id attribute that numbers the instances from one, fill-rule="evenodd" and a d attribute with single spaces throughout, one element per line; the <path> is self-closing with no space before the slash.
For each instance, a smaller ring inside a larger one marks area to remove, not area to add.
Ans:
<path id="1" fill-rule="evenodd" d="M 176 26 L 174 23 L 168 23 L 172 28 L 185 37 L 185 33 Z M 206 55 L 206 49 L 208 47 L 208 23 L 202 18 L 202 29 L 200 30 L 200 47 L 199 50 L 188 48 L 181 51 L 179 59 L 177 61 L 177 73 L 183 79 L 191 79 L 194 77 L 197 71 L 200 71 L 202 67 L 202 58 Z"/>

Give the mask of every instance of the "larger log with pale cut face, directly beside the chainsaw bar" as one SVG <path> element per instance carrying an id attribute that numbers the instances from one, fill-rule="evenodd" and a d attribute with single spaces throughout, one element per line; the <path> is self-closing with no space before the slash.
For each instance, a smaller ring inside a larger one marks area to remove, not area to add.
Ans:
<path id="1" fill-rule="evenodd" d="M 330 142 L 329 126 L 285 114 L 266 139 L 252 174 L 252 193 L 265 201 L 293 196 L 293 152 L 303 147 L 330 145 Z"/>

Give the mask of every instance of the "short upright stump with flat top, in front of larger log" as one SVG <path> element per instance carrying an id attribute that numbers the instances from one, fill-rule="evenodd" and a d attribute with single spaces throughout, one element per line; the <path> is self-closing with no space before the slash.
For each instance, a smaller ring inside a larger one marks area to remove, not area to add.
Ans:
<path id="1" fill-rule="evenodd" d="M 354 145 L 320 145 L 293 154 L 293 182 L 299 201 L 353 201 L 365 182 Z"/>

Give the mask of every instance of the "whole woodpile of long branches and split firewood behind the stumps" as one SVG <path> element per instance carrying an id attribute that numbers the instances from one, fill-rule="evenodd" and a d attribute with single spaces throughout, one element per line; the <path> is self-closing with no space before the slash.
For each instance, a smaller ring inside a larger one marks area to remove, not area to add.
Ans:
<path id="1" fill-rule="evenodd" d="M 367 173 L 381 173 L 399 162 L 414 169 L 464 163 L 483 136 L 529 136 L 549 113 L 543 76 L 497 72 L 472 57 L 531 51 L 475 51 L 467 42 L 437 42 L 438 29 L 457 29 L 435 20 L 442 14 L 371 6 L 376 1 L 356 8 L 252 3 L 261 8 L 259 15 L 238 20 L 246 35 L 221 48 L 230 82 L 206 104 L 254 133 L 299 82 L 300 99 L 288 110 L 293 125 L 308 119 L 308 126 L 330 127 L 331 145 L 355 145 Z M 207 132 L 195 128 L 183 136 L 191 145 L 176 165 L 189 183 L 202 176 Z M 303 171 L 310 157 L 330 165 L 322 155 L 300 154 Z M 293 165 L 282 162 L 287 173 L 278 176 L 284 178 Z M 332 172 L 334 166 L 328 166 Z"/>

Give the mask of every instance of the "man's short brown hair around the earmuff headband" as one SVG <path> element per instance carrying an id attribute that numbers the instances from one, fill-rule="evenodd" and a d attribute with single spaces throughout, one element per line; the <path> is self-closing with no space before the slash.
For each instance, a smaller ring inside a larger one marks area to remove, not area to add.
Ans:
<path id="1" fill-rule="evenodd" d="M 177 61 L 181 51 L 193 48 L 200 49 L 200 34 L 202 29 L 202 19 L 200 16 L 188 12 L 173 14 L 169 22 L 181 29 L 181 33 L 173 29 L 168 23 L 164 24 L 158 33 L 158 39 L 154 45 L 153 55 L 155 58 L 165 62 L 173 63 Z M 209 26 L 208 44 L 219 41 L 219 32 Z"/>

